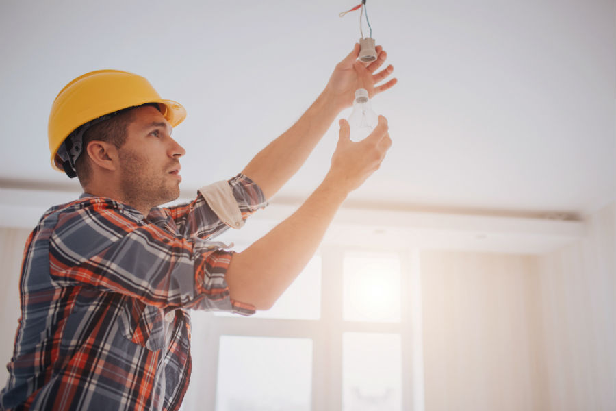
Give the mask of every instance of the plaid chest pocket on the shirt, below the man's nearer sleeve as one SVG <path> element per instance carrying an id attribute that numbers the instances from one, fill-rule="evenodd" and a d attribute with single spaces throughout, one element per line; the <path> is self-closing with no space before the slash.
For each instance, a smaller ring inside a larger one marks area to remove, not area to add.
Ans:
<path id="1" fill-rule="evenodd" d="M 120 332 L 133 343 L 151 351 L 165 345 L 165 321 L 162 309 L 136 299 L 127 299 L 120 310 Z"/>

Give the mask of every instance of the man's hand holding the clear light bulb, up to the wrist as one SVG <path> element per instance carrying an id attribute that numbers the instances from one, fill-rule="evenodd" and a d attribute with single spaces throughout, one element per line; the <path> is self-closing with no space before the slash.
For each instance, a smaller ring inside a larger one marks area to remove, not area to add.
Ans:
<path id="1" fill-rule="evenodd" d="M 392 139 L 389 138 L 387 119 L 383 116 L 378 116 L 378 125 L 374 131 L 360 142 L 350 140 L 346 120 L 340 120 L 339 124 L 338 144 L 323 185 L 348 195 L 381 166 L 387 150 L 392 146 Z"/>

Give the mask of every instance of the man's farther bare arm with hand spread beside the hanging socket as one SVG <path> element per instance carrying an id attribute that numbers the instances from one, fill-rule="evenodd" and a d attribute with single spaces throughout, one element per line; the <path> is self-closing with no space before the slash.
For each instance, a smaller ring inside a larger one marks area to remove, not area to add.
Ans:
<path id="1" fill-rule="evenodd" d="M 357 88 L 365 88 L 372 97 L 396 84 L 397 80 L 391 79 L 376 86 L 394 71 L 389 65 L 374 74 L 387 58 L 381 46 L 376 47 L 376 52 L 378 58 L 364 66 L 357 61 L 359 45 L 356 44 L 355 49 L 337 64 L 327 86 L 303 116 L 255 155 L 242 171 L 259 185 L 266 199 L 276 194 L 300 169 L 339 112 L 352 105 Z"/>

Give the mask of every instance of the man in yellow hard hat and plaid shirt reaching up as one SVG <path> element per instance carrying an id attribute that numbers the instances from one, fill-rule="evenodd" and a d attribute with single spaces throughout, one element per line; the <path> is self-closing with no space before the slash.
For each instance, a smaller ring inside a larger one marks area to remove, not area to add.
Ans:
<path id="1" fill-rule="evenodd" d="M 359 45 L 324 91 L 240 175 L 179 196 L 171 137 L 185 110 L 161 99 L 143 77 L 95 71 L 70 82 L 49 119 L 52 164 L 79 177 L 84 194 L 55 206 L 27 240 L 22 317 L 3 409 L 177 410 L 190 377 L 189 309 L 252 314 L 267 310 L 302 271 L 349 192 L 381 164 L 391 145 L 387 121 L 359 143 L 340 121 L 331 168 L 292 216 L 241 253 L 212 242 L 266 205 L 305 162 L 326 129 L 370 95 L 392 66 L 375 73 Z"/>

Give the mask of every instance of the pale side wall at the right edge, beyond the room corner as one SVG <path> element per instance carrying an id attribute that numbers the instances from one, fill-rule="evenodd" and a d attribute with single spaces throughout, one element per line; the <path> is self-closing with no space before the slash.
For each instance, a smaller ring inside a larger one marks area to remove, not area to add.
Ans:
<path id="1" fill-rule="evenodd" d="M 616 410 L 616 204 L 538 259 L 543 367 L 552 410 Z"/>

